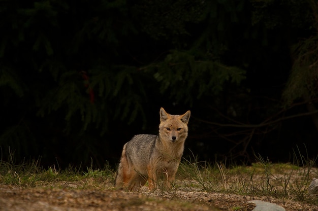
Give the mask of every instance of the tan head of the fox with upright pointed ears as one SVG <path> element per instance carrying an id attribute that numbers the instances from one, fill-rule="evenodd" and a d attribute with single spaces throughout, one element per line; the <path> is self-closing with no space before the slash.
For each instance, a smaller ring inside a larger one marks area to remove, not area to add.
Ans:
<path id="1" fill-rule="evenodd" d="M 160 109 L 159 135 L 163 139 L 169 139 L 171 142 L 181 140 L 184 142 L 187 137 L 187 123 L 190 118 L 190 111 L 183 115 L 168 114 L 163 108 Z"/>

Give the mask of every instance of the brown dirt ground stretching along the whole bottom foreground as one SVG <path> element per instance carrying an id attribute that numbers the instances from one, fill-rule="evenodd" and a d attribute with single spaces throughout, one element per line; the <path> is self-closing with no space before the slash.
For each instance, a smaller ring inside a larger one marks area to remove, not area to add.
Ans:
<path id="1" fill-rule="evenodd" d="M 276 203 L 287 211 L 318 211 L 318 206 L 272 197 L 202 191 L 126 192 L 123 190 L 21 188 L 0 185 L 0 210 L 238 210 L 255 207 L 250 200 Z"/>

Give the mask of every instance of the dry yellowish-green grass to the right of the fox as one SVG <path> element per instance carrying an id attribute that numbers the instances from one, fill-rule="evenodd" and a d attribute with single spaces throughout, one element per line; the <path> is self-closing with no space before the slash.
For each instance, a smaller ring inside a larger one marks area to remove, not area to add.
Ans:
<path id="1" fill-rule="evenodd" d="M 178 188 L 207 192 L 233 193 L 254 196 L 272 196 L 313 204 L 317 200 L 308 194 L 308 186 L 318 177 L 315 160 L 294 153 L 293 163 L 271 163 L 261 156 L 250 166 L 230 166 L 222 163 L 185 160 L 179 166 Z"/>

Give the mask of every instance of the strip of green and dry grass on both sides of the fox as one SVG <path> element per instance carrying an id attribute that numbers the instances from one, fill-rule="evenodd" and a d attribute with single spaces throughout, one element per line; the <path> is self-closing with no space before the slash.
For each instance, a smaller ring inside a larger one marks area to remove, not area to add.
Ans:
<path id="1" fill-rule="evenodd" d="M 63 170 L 55 165 L 43 168 L 40 160 L 15 164 L 13 155 L 9 160 L 0 161 L 0 185 L 114 189 L 114 170 L 108 163 L 103 169 L 93 169 L 91 165 L 80 171 L 72 166 Z M 271 163 L 257 156 L 256 162 L 249 166 L 211 165 L 195 157 L 180 164 L 174 186 L 180 190 L 273 196 L 318 205 L 307 191 L 312 178 L 318 177 L 314 163 L 315 160 L 302 156 L 299 151 L 294 152 L 293 163 Z"/>

